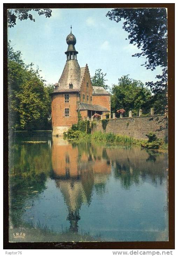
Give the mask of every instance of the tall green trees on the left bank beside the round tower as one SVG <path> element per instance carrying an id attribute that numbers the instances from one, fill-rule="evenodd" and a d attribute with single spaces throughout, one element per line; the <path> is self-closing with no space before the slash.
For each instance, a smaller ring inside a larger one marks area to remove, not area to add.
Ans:
<path id="1" fill-rule="evenodd" d="M 50 129 L 52 86 L 8 43 L 9 128 Z"/>

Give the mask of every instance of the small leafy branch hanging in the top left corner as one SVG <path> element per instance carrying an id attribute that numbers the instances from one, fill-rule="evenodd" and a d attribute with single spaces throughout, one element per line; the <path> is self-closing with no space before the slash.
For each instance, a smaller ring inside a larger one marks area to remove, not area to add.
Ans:
<path id="1" fill-rule="evenodd" d="M 40 16 L 45 15 L 45 17 L 49 18 L 51 17 L 51 9 L 8 9 L 7 10 L 7 22 L 8 22 L 8 27 L 14 27 L 16 25 L 16 19 L 19 20 L 33 20 L 33 15 L 29 13 L 30 11 L 35 11 L 37 12 Z"/>

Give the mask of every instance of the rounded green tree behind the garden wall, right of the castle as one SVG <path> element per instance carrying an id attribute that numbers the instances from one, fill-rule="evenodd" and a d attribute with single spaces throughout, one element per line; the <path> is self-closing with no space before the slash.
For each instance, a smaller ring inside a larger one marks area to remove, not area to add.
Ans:
<path id="1" fill-rule="evenodd" d="M 138 110 L 148 113 L 151 104 L 151 92 L 143 86 L 141 81 L 124 75 L 119 79 L 118 85 L 113 85 L 111 95 L 111 111 L 116 113 L 117 109 L 125 109 L 126 116 L 129 110 L 133 115 L 138 115 Z"/>

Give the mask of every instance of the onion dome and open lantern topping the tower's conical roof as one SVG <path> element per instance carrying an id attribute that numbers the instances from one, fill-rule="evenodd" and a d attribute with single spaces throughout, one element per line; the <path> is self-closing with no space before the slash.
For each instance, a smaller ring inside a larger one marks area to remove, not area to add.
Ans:
<path id="1" fill-rule="evenodd" d="M 72 34 L 72 25 L 71 25 L 71 32 L 66 37 L 66 42 L 68 45 L 67 51 L 65 54 L 67 55 L 67 60 L 77 60 L 77 54 L 78 52 L 75 49 L 76 44 L 76 37 Z"/>

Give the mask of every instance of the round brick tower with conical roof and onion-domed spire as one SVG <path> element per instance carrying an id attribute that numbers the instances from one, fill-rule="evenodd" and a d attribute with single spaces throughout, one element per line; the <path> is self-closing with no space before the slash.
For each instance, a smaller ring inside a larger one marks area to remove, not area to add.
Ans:
<path id="1" fill-rule="evenodd" d="M 80 66 L 77 61 L 78 52 L 75 49 L 76 37 L 67 35 L 68 45 L 65 52 L 67 60 L 58 83 L 52 93 L 51 117 L 52 135 L 63 136 L 73 123 L 77 123 L 77 108 L 80 102 Z"/>

